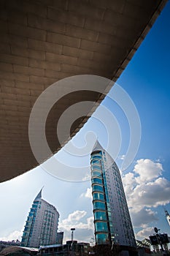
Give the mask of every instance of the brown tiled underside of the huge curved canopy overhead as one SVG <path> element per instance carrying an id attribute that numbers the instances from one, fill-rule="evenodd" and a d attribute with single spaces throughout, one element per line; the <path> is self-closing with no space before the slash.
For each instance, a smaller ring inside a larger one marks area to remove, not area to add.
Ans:
<path id="1" fill-rule="evenodd" d="M 28 121 L 42 91 L 72 75 L 100 75 L 116 81 L 165 4 L 164 0 L 0 1 L 0 181 L 38 165 L 28 139 Z M 76 102 L 100 102 L 103 97 L 77 91 L 58 101 L 46 124 L 51 151 L 57 152 L 69 138 L 66 134 L 62 143 L 56 138 L 64 110 Z M 90 110 L 87 107 L 87 116 L 74 121 L 71 135 L 87 121 Z"/>

